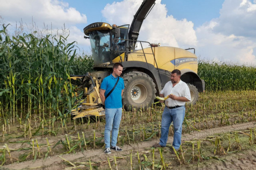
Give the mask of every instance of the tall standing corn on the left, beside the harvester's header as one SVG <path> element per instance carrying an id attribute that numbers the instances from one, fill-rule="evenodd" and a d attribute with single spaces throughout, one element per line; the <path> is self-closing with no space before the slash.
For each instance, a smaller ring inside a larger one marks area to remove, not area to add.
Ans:
<path id="1" fill-rule="evenodd" d="M 65 37 L 51 35 L 9 37 L 6 27 L 0 31 L 0 116 L 10 121 L 31 114 L 63 116 L 76 100 L 75 87 L 68 81 L 75 42 L 67 44 Z"/>

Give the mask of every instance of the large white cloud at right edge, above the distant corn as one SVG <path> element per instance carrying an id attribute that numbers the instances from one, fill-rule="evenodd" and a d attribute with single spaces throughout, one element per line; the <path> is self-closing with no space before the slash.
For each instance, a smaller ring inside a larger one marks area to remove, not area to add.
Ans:
<path id="1" fill-rule="evenodd" d="M 220 17 L 196 28 L 197 54 L 210 60 L 256 65 L 256 24 L 252 22 L 256 15 L 248 12 L 252 6 L 249 0 L 225 0 Z"/>

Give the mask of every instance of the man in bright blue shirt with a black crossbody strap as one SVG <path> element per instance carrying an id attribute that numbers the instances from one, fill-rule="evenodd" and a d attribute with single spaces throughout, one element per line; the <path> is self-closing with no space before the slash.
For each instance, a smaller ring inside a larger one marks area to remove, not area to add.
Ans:
<path id="1" fill-rule="evenodd" d="M 103 105 L 105 105 L 105 131 L 104 131 L 104 141 L 105 141 L 105 153 L 111 153 L 111 149 L 116 151 L 122 151 L 122 149 L 116 146 L 117 136 L 119 132 L 119 125 L 122 118 L 122 94 L 125 88 L 124 80 L 119 77 L 122 74 L 123 66 L 121 63 L 115 63 L 113 65 L 113 73 L 103 79 L 100 86 L 100 99 Z M 118 83 L 116 84 L 119 78 Z M 106 95 L 113 89 L 112 93 L 106 99 Z M 111 142 L 110 142 L 110 133 Z"/>

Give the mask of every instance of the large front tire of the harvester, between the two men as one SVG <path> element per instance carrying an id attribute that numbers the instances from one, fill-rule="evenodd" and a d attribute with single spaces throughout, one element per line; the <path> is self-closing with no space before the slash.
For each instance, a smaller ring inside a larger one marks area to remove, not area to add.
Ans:
<path id="1" fill-rule="evenodd" d="M 147 74 L 133 71 L 123 76 L 125 89 L 122 104 L 126 111 L 132 108 L 147 108 L 154 102 L 157 92 L 153 79 Z"/>

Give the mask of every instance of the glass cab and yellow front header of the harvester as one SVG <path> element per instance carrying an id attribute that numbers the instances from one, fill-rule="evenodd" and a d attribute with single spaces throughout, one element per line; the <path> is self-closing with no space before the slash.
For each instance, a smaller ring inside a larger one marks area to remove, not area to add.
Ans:
<path id="1" fill-rule="evenodd" d="M 129 25 L 110 26 L 108 23 L 93 23 L 84 28 L 84 34 L 90 39 L 94 68 L 102 71 L 94 71 L 84 75 L 71 75 L 71 79 L 81 79 L 79 88 L 84 90 L 84 99 L 77 109 L 71 111 L 73 119 L 84 116 L 103 116 L 102 102 L 99 97 L 99 87 L 103 78 L 111 74 L 112 60 L 119 57 L 126 49 L 125 38 L 128 36 Z M 120 58 L 122 62 L 122 58 Z"/>

